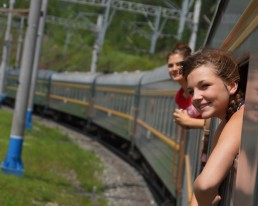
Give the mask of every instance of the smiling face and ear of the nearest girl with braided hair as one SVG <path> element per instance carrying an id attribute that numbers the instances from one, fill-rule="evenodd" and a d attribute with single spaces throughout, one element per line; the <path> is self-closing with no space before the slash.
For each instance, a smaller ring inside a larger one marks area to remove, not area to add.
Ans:
<path id="1" fill-rule="evenodd" d="M 187 84 L 192 104 L 201 113 L 202 118 L 225 119 L 229 97 L 235 93 L 236 83 L 226 84 L 215 74 L 214 68 L 203 65 L 188 75 Z"/>

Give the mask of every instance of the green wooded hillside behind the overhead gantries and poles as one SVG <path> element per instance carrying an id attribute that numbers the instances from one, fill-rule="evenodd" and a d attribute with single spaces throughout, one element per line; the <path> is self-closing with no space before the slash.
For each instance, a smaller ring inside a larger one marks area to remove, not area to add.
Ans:
<path id="1" fill-rule="evenodd" d="M 167 8 L 182 7 L 179 0 L 130 0 L 131 2 L 155 5 Z M 214 6 L 210 1 L 203 1 L 197 46 L 203 45 L 213 12 Z M 20 0 L 16 8 L 28 7 L 28 0 Z M 193 7 L 193 6 L 192 6 Z M 48 1 L 48 15 L 62 17 L 67 20 L 76 19 L 96 24 L 97 14 L 104 13 L 104 8 L 89 5 L 67 3 L 61 0 Z M 163 22 L 165 19 L 161 19 Z M 149 55 L 154 17 L 134 14 L 125 11 L 116 11 L 107 29 L 104 45 L 98 61 L 98 71 L 134 71 L 150 70 L 166 63 L 166 53 L 178 41 L 188 43 L 191 35 L 191 25 L 186 24 L 181 40 L 176 38 L 178 21 L 167 20 L 162 35 L 156 44 L 154 55 Z M 17 45 L 17 29 L 13 29 L 13 43 Z M 15 34 L 16 33 L 16 34 Z M 3 39 L 3 38 L 2 38 Z M 89 71 L 92 61 L 92 50 L 96 34 L 89 30 L 74 30 L 71 27 L 62 27 L 47 23 L 41 52 L 40 67 L 49 70 Z M 2 40 L 3 41 L 3 40 Z M 10 63 L 15 62 L 15 51 L 11 53 Z"/>

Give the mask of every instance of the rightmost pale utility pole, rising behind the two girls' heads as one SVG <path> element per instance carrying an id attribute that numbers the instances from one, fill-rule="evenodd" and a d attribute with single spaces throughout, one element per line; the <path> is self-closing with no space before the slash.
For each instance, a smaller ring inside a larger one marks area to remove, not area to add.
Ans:
<path id="1" fill-rule="evenodd" d="M 196 47 L 201 6 L 202 6 L 202 0 L 196 0 L 194 5 L 192 34 L 189 40 L 189 47 L 192 49 L 192 51 L 195 51 L 195 47 Z"/>

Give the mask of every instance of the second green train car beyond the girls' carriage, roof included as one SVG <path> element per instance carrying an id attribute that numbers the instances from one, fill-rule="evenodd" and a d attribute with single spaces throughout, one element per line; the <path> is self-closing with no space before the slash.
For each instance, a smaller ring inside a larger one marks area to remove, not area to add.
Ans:
<path id="1" fill-rule="evenodd" d="M 131 141 L 131 123 L 143 73 L 115 73 L 97 78 L 93 123 Z"/>

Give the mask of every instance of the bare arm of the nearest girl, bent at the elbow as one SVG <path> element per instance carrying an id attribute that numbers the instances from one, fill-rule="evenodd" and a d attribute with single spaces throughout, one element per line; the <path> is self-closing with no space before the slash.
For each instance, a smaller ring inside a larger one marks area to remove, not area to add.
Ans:
<path id="1" fill-rule="evenodd" d="M 242 122 L 243 109 L 240 109 L 223 128 L 218 128 L 218 139 L 215 140 L 214 149 L 201 174 L 194 182 L 194 193 L 198 206 L 212 205 L 213 200 L 218 195 L 218 188 L 228 174 L 233 161 L 238 154 Z M 221 125 L 223 122 L 221 123 Z"/>

